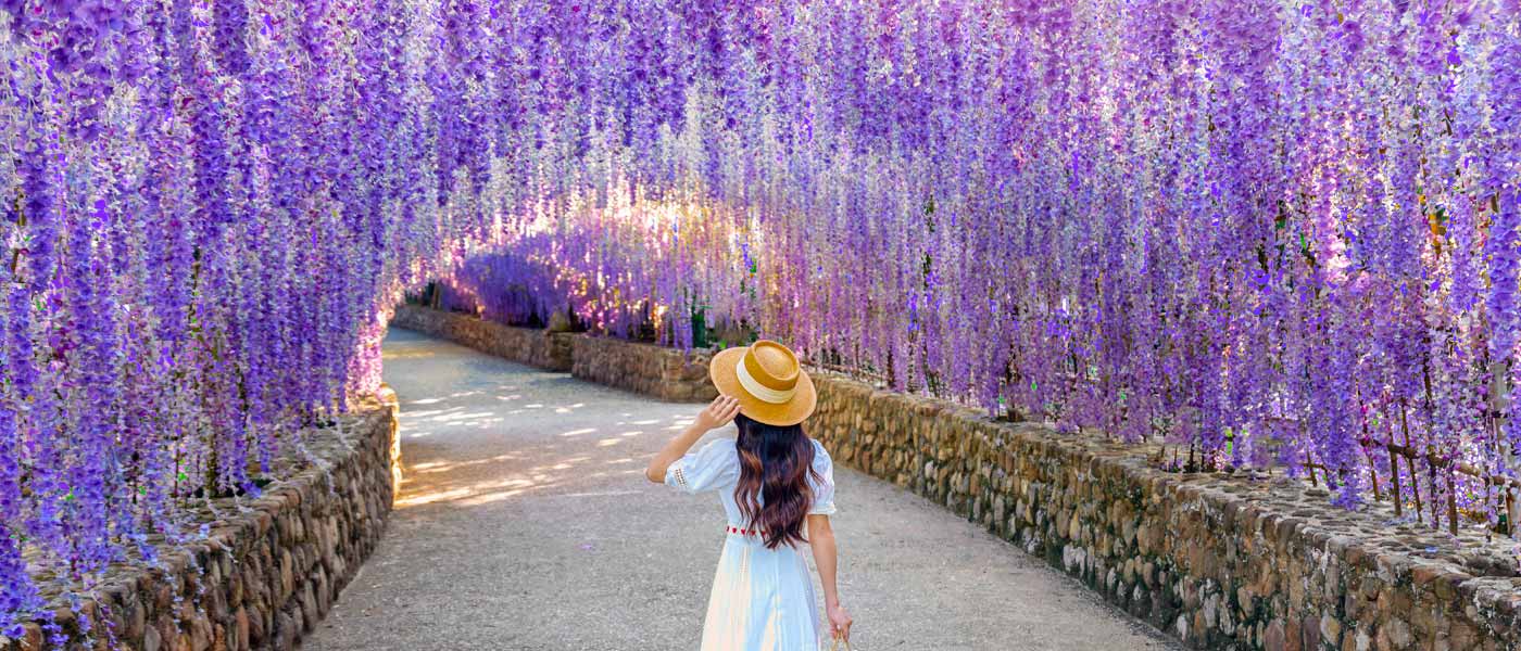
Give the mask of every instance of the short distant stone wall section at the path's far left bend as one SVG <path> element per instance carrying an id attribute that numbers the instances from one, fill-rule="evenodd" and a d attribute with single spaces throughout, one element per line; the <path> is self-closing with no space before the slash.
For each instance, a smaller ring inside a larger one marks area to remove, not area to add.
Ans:
<path id="1" fill-rule="evenodd" d="M 391 323 L 427 332 L 433 337 L 520 364 L 557 372 L 570 370 L 570 341 L 576 337 L 567 332 L 513 328 L 468 314 L 446 313 L 409 303 L 395 308 Z"/>

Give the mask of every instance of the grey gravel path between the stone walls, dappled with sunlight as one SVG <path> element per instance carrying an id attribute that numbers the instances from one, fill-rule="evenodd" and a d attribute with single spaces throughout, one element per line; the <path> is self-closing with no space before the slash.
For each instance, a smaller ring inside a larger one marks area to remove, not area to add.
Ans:
<path id="1" fill-rule="evenodd" d="M 400 329 L 385 363 L 406 480 L 306 649 L 698 648 L 724 514 L 643 478 L 697 405 Z M 919 496 L 835 480 L 856 651 L 1180 648 Z"/>

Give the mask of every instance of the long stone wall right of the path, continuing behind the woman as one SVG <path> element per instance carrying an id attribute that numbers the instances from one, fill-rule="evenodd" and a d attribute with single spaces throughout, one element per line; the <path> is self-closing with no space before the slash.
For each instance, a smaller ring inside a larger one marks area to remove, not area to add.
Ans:
<path id="1" fill-rule="evenodd" d="M 572 348 L 581 378 L 709 398 L 692 388 L 704 360 L 686 360 L 610 338 Z M 1189 646 L 1521 649 L 1521 578 L 1501 540 L 1454 540 L 1380 505 L 1346 511 L 1282 473 L 1170 473 L 1147 461 L 1154 448 L 835 373 L 814 384 L 806 426 L 838 463 L 987 527 Z"/>

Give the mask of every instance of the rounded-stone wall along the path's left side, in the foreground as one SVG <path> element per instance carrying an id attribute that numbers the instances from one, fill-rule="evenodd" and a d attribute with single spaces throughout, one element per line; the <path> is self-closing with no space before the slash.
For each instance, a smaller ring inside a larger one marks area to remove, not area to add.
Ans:
<path id="1" fill-rule="evenodd" d="M 82 609 L 94 648 L 297 648 L 374 549 L 391 513 L 400 467 L 395 399 L 389 392 L 382 398 L 354 405 L 342 437 L 333 428 L 313 431 L 306 446 L 318 463 L 245 499 L 246 510 L 230 498 L 213 501 L 221 517 L 205 514 L 210 536 L 183 551 L 164 549 L 167 569 L 113 568 Z M 68 607 L 56 621 L 70 636 L 68 649 L 90 648 Z M 0 639 L 5 651 L 41 648 L 55 646 L 44 645 L 35 624 L 20 640 Z"/>

